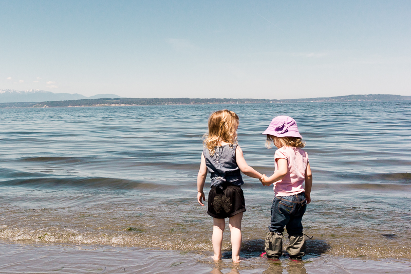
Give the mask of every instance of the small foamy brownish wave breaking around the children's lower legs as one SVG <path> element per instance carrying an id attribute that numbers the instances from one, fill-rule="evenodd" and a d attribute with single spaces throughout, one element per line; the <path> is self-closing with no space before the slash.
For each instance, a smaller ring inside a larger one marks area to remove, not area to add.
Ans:
<path id="1" fill-rule="evenodd" d="M 128 229 L 114 233 L 80 232 L 73 229 L 49 227 L 45 229 L 11 228 L 0 226 L 0 239 L 11 242 L 43 243 L 43 244 L 76 244 L 76 245 L 111 245 L 125 247 L 161 248 L 166 250 L 204 251 L 212 250 L 211 239 L 190 234 L 152 233 L 153 228 Z M 377 235 L 379 236 L 379 235 Z M 329 254 L 336 257 L 384 259 L 411 259 L 411 247 L 404 246 L 403 240 L 386 240 L 380 242 L 345 239 L 345 235 L 336 235 L 333 239 L 307 239 L 307 254 Z M 344 240 L 342 240 L 344 239 Z M 287 235 L 284 236 L 285 247 L 289 245 Z M 387 244 L 387 241 L 391 243 Z M 244 239 L 241 252 L 259 254 L 264 248 L 264 239 Z M 223 251 L 231 250 L 229 241 L 222 246 Z"/>

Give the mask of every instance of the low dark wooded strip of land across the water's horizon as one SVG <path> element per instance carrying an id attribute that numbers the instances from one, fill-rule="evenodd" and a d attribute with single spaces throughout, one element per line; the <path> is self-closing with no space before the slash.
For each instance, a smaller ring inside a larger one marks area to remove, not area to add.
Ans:
<path id="1" fill-rule="evenodd" d="M 100 98 L 44 102 L 0 103 L 0 108 L 45 108 L 45 107 L 98 107 L 98 106 L 144 106 L 144 105 L 201 105 L 201 104 L 268 104 L 308 102 L 367 102 L 411 100 L 411 96 L 370 94 L 303 99 L 232 99 L 232 98 Z"/>

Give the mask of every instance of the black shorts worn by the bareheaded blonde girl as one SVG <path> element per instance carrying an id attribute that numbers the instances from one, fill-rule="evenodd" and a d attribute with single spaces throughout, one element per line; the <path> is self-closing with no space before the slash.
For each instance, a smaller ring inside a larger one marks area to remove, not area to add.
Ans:
<path id="1" fill-rule="evenodd" d="M 223 219 L 245 211 L 246 202 L 240 186 L 228 185 L 224 190 L 211 187 L 207 211 L 210 216 Z"/>

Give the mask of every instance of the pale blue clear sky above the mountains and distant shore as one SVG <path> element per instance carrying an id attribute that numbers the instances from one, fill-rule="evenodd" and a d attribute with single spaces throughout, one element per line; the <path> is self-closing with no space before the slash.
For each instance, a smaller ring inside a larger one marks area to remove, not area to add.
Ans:
<path id="1" fill-rule="evenodd" d="M 0 89 L 411 96 L 411 1 L 0 0 Z"/>

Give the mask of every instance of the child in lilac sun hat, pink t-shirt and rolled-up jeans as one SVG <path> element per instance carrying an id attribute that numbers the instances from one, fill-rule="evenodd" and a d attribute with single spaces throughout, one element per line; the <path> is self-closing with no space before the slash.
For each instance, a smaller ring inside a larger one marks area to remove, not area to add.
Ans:
<path id="1" fill-rule="evenodd" d="M 306 244 L 301 224 L 307 204 L 311 202 L 312 175 L 307 152 L 302 150 L 305 142 L 298 133 L 297 123 L 288 116 L 275 117 L 267 130 L 266 147 L 271 142 L 278 150 L 274 154 L 275 172 L 260 179 L 264 186 L 274 185 L 274 200 L 271 206 L 271 224 L 261 257 L 278 260 L 283 254 L 283 232 L 287 228 L 290 259 L 301 260 Z M 305 186 L 303 187 L 303 183 Z"/>

